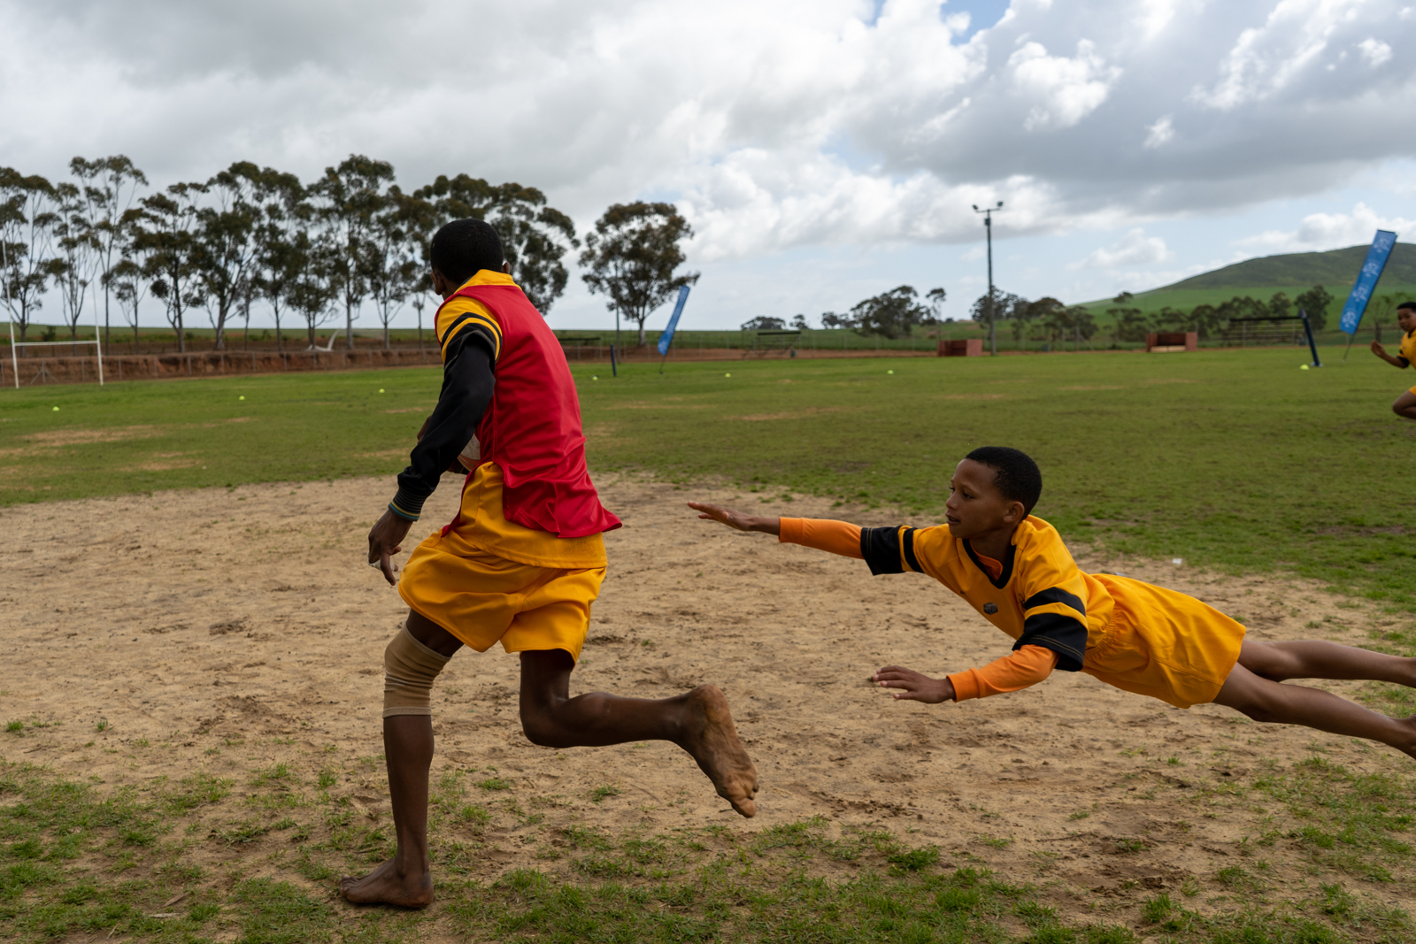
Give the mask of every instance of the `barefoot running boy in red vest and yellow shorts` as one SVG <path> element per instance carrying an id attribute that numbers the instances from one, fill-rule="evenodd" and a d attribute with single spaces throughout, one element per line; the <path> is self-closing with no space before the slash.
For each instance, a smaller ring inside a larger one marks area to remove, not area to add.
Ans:
<path id="1" fill-rule="evenodd" d="M 398 477 L 398 494 L 368 532 L 368 563 L 398 586 L 408 623 L 384 652 L 384 753 L 398 851 L 340 882 L 350 902 L 426 907 L 430 691 L 447 660 L 501 643 L 521 654 L 521 727 L 547 747 L 668 740 L 687 750 L 718 794 L 756 812 L 758 776 L 714 685 L 661 701 L 592 692 L 571 698 L 590 604 L 605 580 L 605 531 L 619 518 L 585 466 L 575 381 L 545 318 L 511 280 L 496 229 L 457 219 L 430 246 L 433 287 L 446 299 L 435 330 L 443 385 Z M 480 453 L 457 517 L 433 532 L 399 576 L 391 556 L 443 470 L 473 434 Z"/>

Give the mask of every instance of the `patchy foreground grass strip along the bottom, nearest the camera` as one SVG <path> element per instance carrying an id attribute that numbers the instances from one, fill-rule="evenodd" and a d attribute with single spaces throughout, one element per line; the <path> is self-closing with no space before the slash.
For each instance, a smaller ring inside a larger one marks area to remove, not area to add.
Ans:
<path id="1" fill-rule="evenodd" d="M 170 744 L 132 747 L 163 749 Z M 821 818 L 756 834 L 721 825 L 626 835 L 568 827 L 544 852 L 568 859 L 576 882 L 531 869 L 480 882 L 472 876 L 481 844 L 450 839 L 449 827 L 466 835 L 472 824 L 481 835 L 508 817 L 498 808 L 508 804 L 489 800 L 459 770 L 433 783 L 429 805 L 443 914 L 350 913 L 292 882 L 251 876 L 231 860 L 200 860 L 204 841 L 239 855 L 245 844 L 272 834 L 292 845 L 270 858 L 323 885 L 387 858 L 387 824 L 355 818 L 327 791 L 347 769 L 379 759 L 314 760 L 324 763 L 317 773 L 285 764 L 252 771 L 255 793 L 239 804 L 231 798 L 234 780 L 205 773 L 101 795 L 37 767 L 4 766 L 0 928 L 25 944 L 118 934 L 157 944 L 411 944 L 429 933 L 525 944 L 1398 944 L 1416 930 L 1403 910 L 1366 892 L 1354 894 L 1338 880 L 1310 894 L 1283 894 L 1266 859 L 1243 858 L 1212 876 L 1226 907 L 1202 913 L 1201 885 L 1189 876 L 1172 892 L 1138 896 L 1140 907 L 1129 909 L 1140 911 L 1133 931 L 1116 923 L 1113 907 L 1080 920 L 1062 913 L 1046 862 L 1038 863 L 1034 883 L 960 866 L 947 860 L 969 859 L 959 851 L 912 846 L 908 836 L 881 828 L 847 828 L 833 838 Z M 1255 839 L 1246 856 L 1291 838 L 1306 845 L 1314 870 L 1338 868 L 1349 885 L 1355 876 L 1392 882 L 1382 860 L 1409 855 L 1391 834 L 1402 834 L 1410 817 L 1383 817 L 1374 807 L 1385 810 L 1406 790 L 1403 781 L 1352 776 L 1315 757 L 1270 770 L 1252 788 L 1194 790 L 1194 812 L 1187 814 L 1222 808 L 1235 817 L 1242 807 L 1277 802 L 1277 818 L 1264 819 L 1267 832 L 1246 835 L 1246 846 Z M 556 802 L 537 797 L 532 805 L 537 800 Z M 1313 805 L 1324 811 L 1321 821 L 1313 821 Z M 539 817 L 514 801 L 510 807 L 520 818 Z M 210 817 L 217 810 L 244 815 L 215 831 Z"/>

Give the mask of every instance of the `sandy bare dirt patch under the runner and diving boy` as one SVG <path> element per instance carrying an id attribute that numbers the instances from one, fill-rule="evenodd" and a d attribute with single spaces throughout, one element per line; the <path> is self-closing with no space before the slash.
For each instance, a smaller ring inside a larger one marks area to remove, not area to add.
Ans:
<path id="1" fill-rule="evenodd" d="M 538 851 L 571 822 L 759 829 L 824 817 L 833 829 L 879 824 L 937 844 L 946 863 L 1055 882 L 1073 894 L 1059 903 L 1085 911 L 1086 894 L 1174 889 L 1185 876 L 1218 893 L 1216 870 L 1249 862 L 1242 842 L 1262 831 L 1264 811 L 1218 801 L 1201 810 L 1188 800 L 1197 788 L 1252 783 L 1266 766 L 1313 752 L 1357 773 L 1410 770 L 1385 747 L 1259 726 L 1216 706 L 1178 710 L 1080 674 L 959 706 L 893 702 L 867 682 L 874 668 L 957 671 L 1007 652 L 1008 640 L 925 577 L 871 577 L 860 562 L 731 532 L 683 507 L 698 498 L 847 517 L 826 501 L 600 484 L 626 526 L 606 535 L 609 579 L 572 691 L 667 696 L 716 682 L 762 774 L 760 814 L 732 814 L 668 744 L 532 746 L 517 723 L 517 660 L 464 650 L 435 689 L 435 780 L 445 769 L 494 770 L 511 783 L 504 795 L 555 801 L 541 822 L 498 817 L 486 834 L 487 877 L 514 866 L 569 875 L 565 860 Z M 405 607 L 365 566 L 364 546 L 392 491 L 392 480 L 348 480 L 0 512 L 0 720 L 52 725 L 3 736 L 0 754 L 103 790 L 205 770 L 234 778 L 238 797 L 255 769 L 287 763 L 309 781 L 338 761 L 333 793 L 387 821 L 375 763 L 381 665 Z M 445 477 L 415 534 L 452 515 L 456 491 Z M 878 512 L 851 517 L 893 524 Z M 1257 638 L 1361 641 L 1385 618 L 1313 585 L 1086 548 L 1078 556 L 1087 569 L 1194 593 Z M 278 870 L 262 856 L 282 844 L 272 835 L 227 855 Z M 1320 880 L 1281 845 L 1267 855 L 1274 880 Z M 1406 882 L 1378 892 L 1416 904 Z"/>

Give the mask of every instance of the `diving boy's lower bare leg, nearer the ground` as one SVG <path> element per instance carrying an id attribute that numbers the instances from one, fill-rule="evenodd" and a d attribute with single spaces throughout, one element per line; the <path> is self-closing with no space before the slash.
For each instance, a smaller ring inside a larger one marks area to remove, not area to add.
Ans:
<path id="1" fill-rule="evenodd" d="M 1229 672 L 1215 703 L 1232 708 L 1256 722 L 1304 725 L 1332 735 L 1365 737 L 1416 757 L 1416 718 L 1388 718 L 1331 692 L 1303 685 L 1283 685 L 1255 675 L 1243 664 L 1235 665 Z"/>

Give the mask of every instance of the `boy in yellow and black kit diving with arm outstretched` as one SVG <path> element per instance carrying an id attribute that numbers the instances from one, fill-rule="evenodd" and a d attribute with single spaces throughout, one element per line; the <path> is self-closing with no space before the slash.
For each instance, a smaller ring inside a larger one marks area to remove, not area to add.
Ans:
<path id="1" fill-rule="evenodd" d="M 1199 600 L 1110 573 L 1083 573 L 1048 522 L 1032 517 L 1037 464 L 986 446 L 959 463 L 932 528 L 861 528 L 844 521 L 760 518 L 688 502 L 700 518 L 777 535 L 847 558 L 871 573 L 925 573 L 1012 637 L 981 668 L 929 678 L 901 665 L 871 677 L 898 699 L 961 702 L 1037 685 L 1054 669 L 1086 672 L 1177 708 L 1214 702 L 1257 722 L 1366 737 L 1416 757 L 1416 718 L 1393 719 L 1290 678 L 1374 679 L 1416 686 L 1416 660 L 1324 641 L 1259 643 Z"/>

